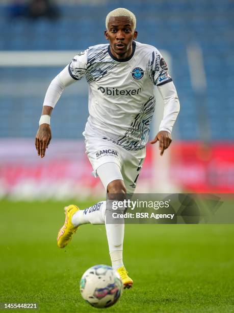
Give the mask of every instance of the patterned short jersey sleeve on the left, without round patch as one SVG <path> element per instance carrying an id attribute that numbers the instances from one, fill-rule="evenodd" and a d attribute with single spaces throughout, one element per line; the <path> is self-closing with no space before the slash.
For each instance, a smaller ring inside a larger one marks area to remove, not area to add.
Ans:
<path id="1" fill-rule="evenodd" d="M 88 49 L 76 54 L 68 66 L 70 76 L 80 80 L 86 75 Z"/>

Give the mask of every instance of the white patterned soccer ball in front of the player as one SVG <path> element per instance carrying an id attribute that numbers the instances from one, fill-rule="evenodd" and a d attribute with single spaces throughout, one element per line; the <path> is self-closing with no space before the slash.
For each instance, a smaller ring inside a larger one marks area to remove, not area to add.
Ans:
<path id="1" fill-rule="evenodd" d="M 104 308 L 118 301 L 123 292 L 123 283 L 111 266 L 94 265 L 83 274 L 80 291 L 89 304 Z"/>

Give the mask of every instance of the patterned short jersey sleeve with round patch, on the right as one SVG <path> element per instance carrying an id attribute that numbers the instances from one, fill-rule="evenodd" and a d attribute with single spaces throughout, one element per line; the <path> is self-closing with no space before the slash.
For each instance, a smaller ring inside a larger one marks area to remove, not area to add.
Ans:
<path id="1" fill-rule="evenodd" d="M 157 49 L 153 50 L 149 57 L 148 71 L 149 79 L 154 85 L 161 86 L 172 81 L 167 63 Z"/>

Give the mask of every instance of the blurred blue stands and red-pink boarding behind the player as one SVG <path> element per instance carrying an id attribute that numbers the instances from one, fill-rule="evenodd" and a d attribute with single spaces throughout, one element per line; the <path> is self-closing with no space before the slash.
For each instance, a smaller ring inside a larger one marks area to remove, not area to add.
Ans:
<path id="1" fill-rule="evenodd" d="M 105 17 L 116 7 L 136 14 L 140 42 L 165 51 L 181 105 L 164 157 L 147 146 L 137 191 L 234 192 L 233 1 L 59 0 L 46 9 L 42 0 L 1 0 L 0 197 L 105 195 L 84 153 L 85 80 L 57 104 L 42 160 L 34 138 L 51 79 L 76 51 L 106 42 Z"/>

